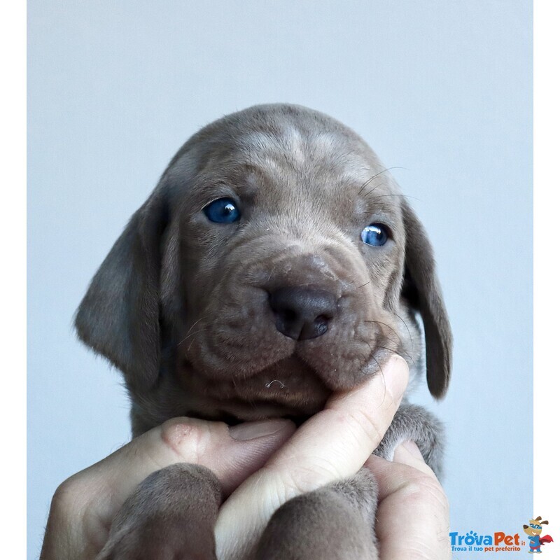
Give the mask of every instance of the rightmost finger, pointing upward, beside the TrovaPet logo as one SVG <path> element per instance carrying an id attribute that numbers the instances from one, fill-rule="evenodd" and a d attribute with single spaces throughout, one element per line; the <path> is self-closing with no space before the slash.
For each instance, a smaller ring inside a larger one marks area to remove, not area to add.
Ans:
<path id="1" fill-rule="evenodd" d="M 416 444 L 395 449 L 394 461 L 367 460 L 379 485 L 375 532 L 384 560 L 448 560 L 449 505 L 442 486 Z"/>

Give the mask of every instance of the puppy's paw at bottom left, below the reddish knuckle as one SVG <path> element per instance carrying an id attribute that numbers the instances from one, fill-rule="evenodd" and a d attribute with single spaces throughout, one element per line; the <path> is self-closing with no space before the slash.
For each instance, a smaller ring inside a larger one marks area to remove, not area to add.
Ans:
<path id="1" fill-rule="evenodd" d="M 153 472 L 126 500 L 96 560 L 215 560 L 218 479 L 200 465 Z"/>

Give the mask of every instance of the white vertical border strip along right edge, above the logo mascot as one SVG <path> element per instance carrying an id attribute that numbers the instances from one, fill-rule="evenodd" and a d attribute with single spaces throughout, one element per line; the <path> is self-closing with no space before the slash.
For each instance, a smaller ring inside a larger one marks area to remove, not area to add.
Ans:
<path id="1" fill-rule="evenodd" d="M 555 1 L 534 5 L 535 145 L 534 145 L 534 506 L 533 515 L 548 519 L 546 531 L 560 547 L 559 284 L 560 248 L 560 9 Z M 530 383 L 527 379 L 527 383 Z M 545 530 L 543 529 L 543 533 Z M 547 550 L 545 549 L 545 552 Z M 552 551 L 551 551 L 552 552 Z"/>

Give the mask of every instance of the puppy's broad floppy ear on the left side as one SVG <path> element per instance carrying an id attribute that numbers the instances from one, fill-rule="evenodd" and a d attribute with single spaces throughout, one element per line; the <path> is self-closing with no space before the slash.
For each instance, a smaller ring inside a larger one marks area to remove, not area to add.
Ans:
<path id="1" fill-rule="evenodd" d="M 132 216 L 90 283 L 76 313 L 78 336 L 149 388 L 160 367 L 160 239 L 167 225 L 162 190 Z"/>

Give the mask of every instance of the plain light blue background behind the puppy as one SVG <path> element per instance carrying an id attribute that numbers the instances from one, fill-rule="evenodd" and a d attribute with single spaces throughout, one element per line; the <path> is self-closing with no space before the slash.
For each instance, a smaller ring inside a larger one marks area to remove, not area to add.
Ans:
<path id="1" fill-rule="evenodd" d="M 129 437 L 120 375 L 72 332 L 87 283 L 190 134 L 279 101 L 339 118 L 405 167 L 393 174 L 435 246 L 456 340 L 447 398 L 417 399 L 447 424 L 451 529 L 521 531 L 531 19 L 526 0 L 30 0 L 29 559 L 57 484 Z"/>

